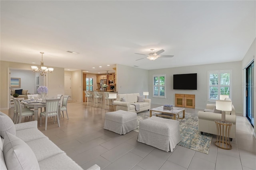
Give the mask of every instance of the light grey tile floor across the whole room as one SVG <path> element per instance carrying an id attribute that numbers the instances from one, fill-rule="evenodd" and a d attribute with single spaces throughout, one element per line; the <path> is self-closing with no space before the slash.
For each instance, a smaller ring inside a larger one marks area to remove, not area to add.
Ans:
<path id="1" fill-rule="evenodd" d="M 152 108 L 158 106 L 152 104 Z M 2 112 L 10 117 L 13 115 L 13 109 Z M 69 120 L 64 113 L 60 127 L 52 119 L 48 120 L 47 131 L 44 121 L 38 129 L 84 169 L 94 164 L 102 170 L 256 169 L 254 129 L 245 117 L 236 117 L 236 139 L 232 141 L 232 150 L 216 147 L 213 137 L 209 154 L 204 154 L 178 145 L 173 152 L 165 152 L 137 142 L 138 133 L 134 131 L 118 135 L 105 130 L 106 112 L 108 110 L 101 107 L 72 102 L 68 103 Z M 186 112 L 197 113 L 198 109 L 186 108 Z"/>

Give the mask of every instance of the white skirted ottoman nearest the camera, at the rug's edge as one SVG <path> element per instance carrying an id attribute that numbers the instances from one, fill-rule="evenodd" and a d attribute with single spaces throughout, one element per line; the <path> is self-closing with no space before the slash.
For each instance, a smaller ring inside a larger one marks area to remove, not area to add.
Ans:
<path id="1" fill-rule="evenodd" d="M 169 152 L 180 142 L 180 122 L 152 116 L 139 123 L 138 142 Z"/>

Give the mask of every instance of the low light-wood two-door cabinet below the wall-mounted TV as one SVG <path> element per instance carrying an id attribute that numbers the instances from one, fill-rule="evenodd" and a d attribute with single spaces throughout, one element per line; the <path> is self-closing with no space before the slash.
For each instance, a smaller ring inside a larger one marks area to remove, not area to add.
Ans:
<path id="1" fill-rule="evenodd" d="M 175 106 L 195 108 L 194 94 L 175 94 Z"/>

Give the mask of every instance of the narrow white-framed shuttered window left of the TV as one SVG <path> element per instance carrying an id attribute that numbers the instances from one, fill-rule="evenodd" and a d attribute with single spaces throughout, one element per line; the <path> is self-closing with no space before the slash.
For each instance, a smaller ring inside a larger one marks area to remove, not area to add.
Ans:
<path id="1" fill-rule="evenodd" d="M 165 98 L 165 74 L 153 75 L 153 97 Z"/>

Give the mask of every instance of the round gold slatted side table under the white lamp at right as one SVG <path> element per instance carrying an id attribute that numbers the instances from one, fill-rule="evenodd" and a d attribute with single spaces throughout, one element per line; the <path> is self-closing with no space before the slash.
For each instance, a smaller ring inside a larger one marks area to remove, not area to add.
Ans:
<path id="1" fill-rule="evenodd" d="M 232 149 L 230 143 L 230 129 L 233 125 L 232 122 L 222 122 L 221 120 L 215 120 L 217 128 L 217 140 L 215 145 L 221 149 Z"/>

